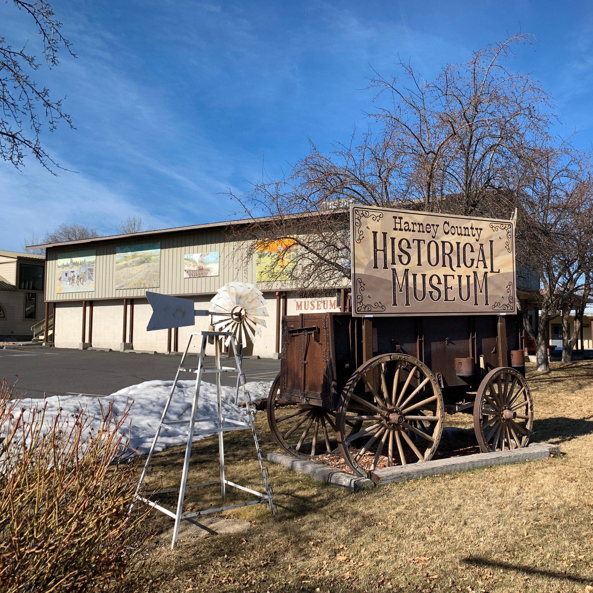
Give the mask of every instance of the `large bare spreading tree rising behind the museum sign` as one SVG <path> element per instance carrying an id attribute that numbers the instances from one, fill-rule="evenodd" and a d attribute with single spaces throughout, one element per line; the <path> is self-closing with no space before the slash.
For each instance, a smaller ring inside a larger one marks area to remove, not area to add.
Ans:
<path id="1" fill-rule="evenodd" d="M 300 288 L 349 282 L 344 206 L 352 202 L 510 216 L 514 205 L 501 203 L 509 171 L 548 137 L 551 118 L 540 84 L 506 66 L 514 44 L 531 42 L 519 34 L 493 44 L 432 82 L 403 62 L 403 81 L 375 76 L 366 132 L 355 130 L 328 155 L 311 142 L 287 176 L 263 176 L 245 195 L 231 194 L 253 219 L 241 228 L 240 238 L 251 240 L 246 261 L 265 252 L 270 274 Z M 278 241 L 291 245 L 290 257 L 275 250 Z"/>

